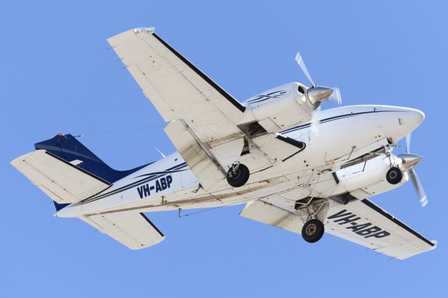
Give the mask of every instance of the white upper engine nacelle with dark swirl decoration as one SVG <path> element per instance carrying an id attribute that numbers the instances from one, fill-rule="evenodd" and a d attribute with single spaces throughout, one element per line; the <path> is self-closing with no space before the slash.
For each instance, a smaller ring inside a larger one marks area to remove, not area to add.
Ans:
<path id="1" fill-rule="evenodd" d="M 241 125 L 258 122 L 266 132 L 279 132 L 311 120 L 314 106 L 307 99 L 307 87 L 289 83 L 244 101 Z"/>

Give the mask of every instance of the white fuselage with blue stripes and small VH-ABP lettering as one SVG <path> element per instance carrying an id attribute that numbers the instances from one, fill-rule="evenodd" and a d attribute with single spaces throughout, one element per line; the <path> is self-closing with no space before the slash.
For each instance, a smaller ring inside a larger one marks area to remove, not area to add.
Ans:
<path id="1" fill-rule="evenodd" d="M 344 106 L 321 111 L 318 115 L 317 134 L 310 123 L 281 132 L 283 136 L 304 142 L 306 148 L 302 152 L 264 171 L 251 173 L 248 183 L 237 190 L 232 190 L 223 180 L 213 190 L 205 192 L 179 152 L 174 152 L 118 180 L 93 197 L 62 208 L 56 216 L 228 206 L 279 192 L 293 201 L 294 197 L 303 197 L 303 194 L 330 197 L 376 182 L 379 183 L 377 188 L 369 193 L 379 194 L 405 183 L 406 175 L 398 185 L 380 183 L 384 170 L 393 162 L 384 154 L 365 164 L 346 166 L 341 170 L 339 167 L 356 157 L 397 143 L 423 121 L 421 111 L 395 106 Z M 246 160 L 241 161 L 244 164 L 255 162 L 251 154 L 241 158 Z M 331 175 L 335 170 L 339 183 L 335 183 L 335 176 Z"/>

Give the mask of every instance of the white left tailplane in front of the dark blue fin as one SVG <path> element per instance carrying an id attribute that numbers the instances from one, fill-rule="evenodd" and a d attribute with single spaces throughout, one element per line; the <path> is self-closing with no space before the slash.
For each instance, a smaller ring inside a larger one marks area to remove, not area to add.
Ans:
<path id="1" fill-rule="evenodd" d="M 58 204 L 75 203 L 97 194 L 110 183 L 74 164 L 36 150 L 14 159 L 11 164 Z"/>

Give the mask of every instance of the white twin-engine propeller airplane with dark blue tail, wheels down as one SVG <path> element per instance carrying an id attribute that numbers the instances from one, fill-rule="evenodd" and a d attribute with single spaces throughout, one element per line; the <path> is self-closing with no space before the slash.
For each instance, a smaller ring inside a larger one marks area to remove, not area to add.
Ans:
<path id="1" fill-rule="evenodd" d="M 144 213 L 244 204 L 244 218 L 301 234 L 324 232 L 399 260 L 429 241 L 369 198 L 409 180 L 428 203 L 410 152 L 424 114 L 398 106 L 339 106 L 339 89 L 309 80 L 240 102 L 155 34 L 136 28 L 108 39 L 168 122 L 177 152 L 118 171 L 76 136 L 57 134 L 11 164 L 50 197 L 57 218 L 80 218 L 133 250 L 165 239 Z M 406 139 L 406 151 L 393 150 Z"/>

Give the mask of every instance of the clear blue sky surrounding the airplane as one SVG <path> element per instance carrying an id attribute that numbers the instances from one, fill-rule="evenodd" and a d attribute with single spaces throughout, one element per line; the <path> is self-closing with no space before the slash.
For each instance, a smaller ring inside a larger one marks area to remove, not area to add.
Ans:
<path id="1" fill-rule="evenodd" d="M 372 2 L 2 1 L 0 297 L 446 297 L 448 2 Z M 424 157 L 416 171 L 428 206 L 411 183 L 373 200 L 437 239 L 437 249 L 398 261 L 328 234 L 309 244 L 239 218 L 242 206 L 186 218 L 147 213 L 167 239 L 139 251 L 54 218 L 50 199 L 9 166 L 34 143 L 84 134 L 116 169 L 160 158 L 154 146 L 175 150 L 107 50 L 106 38 L 142 26 L 240 101 L 291 81 L 308 85 L 294 61 L 300 50 L 314 81 L 338 86 L 345 105 L 426 113 L 412 152 Z"/>

